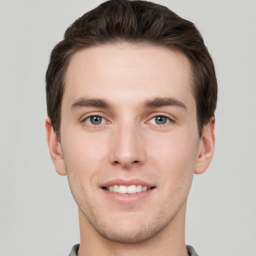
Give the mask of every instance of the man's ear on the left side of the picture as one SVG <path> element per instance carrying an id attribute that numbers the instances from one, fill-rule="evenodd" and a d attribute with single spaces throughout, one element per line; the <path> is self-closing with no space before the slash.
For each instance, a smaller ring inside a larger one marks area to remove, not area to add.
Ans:
<path id="1" fill-rule="evenodd" d="M 55 166 L 55 169 L 59 175 L 66 175 L 66 168 L 64 164 L 64 158 L 60 142 L 53 130 L 50 118 L 47 117 L 45 120 L 46 139 L 50 152 L 51 160 Z"/>

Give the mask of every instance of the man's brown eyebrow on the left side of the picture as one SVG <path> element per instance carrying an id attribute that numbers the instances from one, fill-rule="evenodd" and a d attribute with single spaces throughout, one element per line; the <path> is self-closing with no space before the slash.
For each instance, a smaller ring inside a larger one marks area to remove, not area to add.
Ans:
<path id="1" fill-rule="evenodd" d="M 74 110 L 76 108 L 89 107 L 89 106 L 110 108 L 111 104 L 107 100 L 101 99 L 101 98 L 81 97 L 75 100 L 74 103 L 70 106 L 70 108 L 71 110 Z"/>

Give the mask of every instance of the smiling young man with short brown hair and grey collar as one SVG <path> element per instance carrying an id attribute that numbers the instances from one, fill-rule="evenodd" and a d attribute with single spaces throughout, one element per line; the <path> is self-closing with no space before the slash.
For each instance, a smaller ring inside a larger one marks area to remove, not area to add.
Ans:
<path id="1" fill-rule="evenodd" d="M 186 199 L 213 155 L 217 83 L 195 26 L 151 2 L 104 2 L 52 50 L 46 96 L 50 155 L 78 205 L 69 255 L 197 255 Z"/>

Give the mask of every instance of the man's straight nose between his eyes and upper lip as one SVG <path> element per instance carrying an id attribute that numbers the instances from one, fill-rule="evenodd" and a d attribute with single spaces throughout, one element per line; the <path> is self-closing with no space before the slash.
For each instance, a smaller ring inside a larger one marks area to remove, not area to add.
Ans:
<path id="1" fill-rule="evenodd" d="M 135 123 L 117 125 L 111 136 L 110 162 L 129 169 L 145 161 L 142 131 Z"/>

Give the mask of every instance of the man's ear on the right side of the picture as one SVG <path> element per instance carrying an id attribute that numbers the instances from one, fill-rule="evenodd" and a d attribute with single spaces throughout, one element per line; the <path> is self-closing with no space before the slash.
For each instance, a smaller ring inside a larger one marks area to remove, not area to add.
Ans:
<path id="1" fill-rule="evenodd" d="M 196 174 L 203 173 L 208 168 L 212 159 L 215 146 L 214 126 L 215 118 L 212 117 L 210 121 L 203 127 L 203 132 L 199 142 L 199 152 L 194 170 L 194 173 Z"/>

